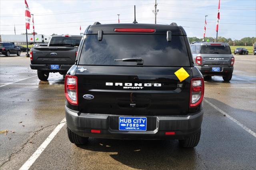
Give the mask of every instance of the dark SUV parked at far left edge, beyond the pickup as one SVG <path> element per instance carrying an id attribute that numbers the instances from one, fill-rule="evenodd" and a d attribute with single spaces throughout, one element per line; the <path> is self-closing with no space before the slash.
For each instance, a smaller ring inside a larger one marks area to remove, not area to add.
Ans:
<path id="1" fill-rule="evenodd" d="M 10 42 L 0 42 L 0 54 L 6 55 L 8 57 L 11 54 L 20 56 L 20 48 Z"/>

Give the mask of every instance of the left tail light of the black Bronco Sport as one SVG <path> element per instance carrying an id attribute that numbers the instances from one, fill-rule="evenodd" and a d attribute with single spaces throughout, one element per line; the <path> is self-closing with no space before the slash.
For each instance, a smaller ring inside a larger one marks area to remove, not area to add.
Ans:
<path id="1" fill-rule="evenodd" d="M 72 105 L 78 105 L 77 77 L 65 76 L 65 96 Z"/>

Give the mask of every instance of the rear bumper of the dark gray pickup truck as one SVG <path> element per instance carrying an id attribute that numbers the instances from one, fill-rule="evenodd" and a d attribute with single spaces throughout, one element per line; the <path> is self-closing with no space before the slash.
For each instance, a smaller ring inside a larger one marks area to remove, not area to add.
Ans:
<path id="1" fill-rule="evenodd" d="M 61 72 L 68 71 L 72 65 L 67 64 L 59 64 L 59 69 L 51 70 L 50 64 L 30 64 L 30 68 L 32 70 L 41 70 L 41 71 L 49 71 L 49 72 Z"/>

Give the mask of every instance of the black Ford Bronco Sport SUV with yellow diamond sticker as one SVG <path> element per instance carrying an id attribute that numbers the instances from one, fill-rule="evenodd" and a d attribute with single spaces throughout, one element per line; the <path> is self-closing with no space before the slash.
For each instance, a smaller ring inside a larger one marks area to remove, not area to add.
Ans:
<path id="1" fill-rule="evenodd" d="M 204 79 L 176 23 L 88 26 L 65 78 L 68 138 L 198 144 Z"/>

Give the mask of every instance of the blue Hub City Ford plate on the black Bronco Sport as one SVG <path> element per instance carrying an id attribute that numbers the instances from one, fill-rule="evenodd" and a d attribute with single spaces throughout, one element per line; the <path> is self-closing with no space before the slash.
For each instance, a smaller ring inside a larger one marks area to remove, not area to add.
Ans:
<path id="1" fill-rule="evenodd" d="M 146 131 L 147 118 L 144 117 L 119 117 L 119 130 Z"/>

